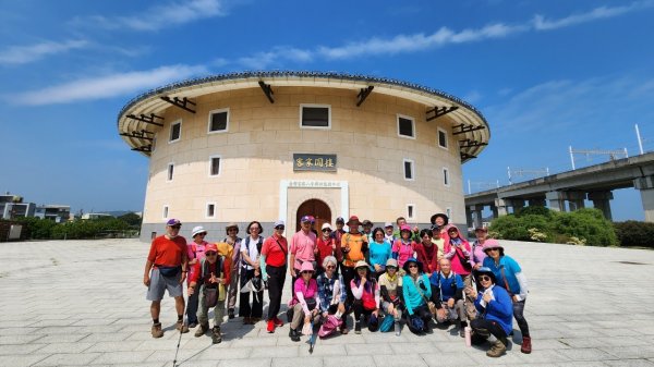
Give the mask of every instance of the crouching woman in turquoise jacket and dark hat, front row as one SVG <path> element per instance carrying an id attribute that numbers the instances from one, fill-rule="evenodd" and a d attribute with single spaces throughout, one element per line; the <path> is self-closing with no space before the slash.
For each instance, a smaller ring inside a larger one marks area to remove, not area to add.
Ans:
<path id="1" fill-rule="evenodd" d="M 423 272 L 422 262 L 411 257 L 404 262 L 402 294 L 407 308 L 407 325 L 415 334 L 429 332 L 429 322 L 434 317 L 429 311 L 428 299 L 432 297 L 429 279 Z"/>

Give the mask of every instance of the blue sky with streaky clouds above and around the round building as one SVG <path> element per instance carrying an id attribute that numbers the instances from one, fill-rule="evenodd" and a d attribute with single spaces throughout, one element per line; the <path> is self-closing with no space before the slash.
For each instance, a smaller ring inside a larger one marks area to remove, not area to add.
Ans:
<path id="1" fill-rule="evenodd" d="M 508 183 L 507 167 L 569 170 L 569 146 L 637 155 L 634 124 L 654 150 L 653 0 L 0 0 L 0 191 L 37 204 L 141 210 L 148 161 L 120 139 L 117 113 L 150 88 L 243 70 L 370 74 L 469 101 L 492 131 L 463 166 L 473 191 Z M 637 191 L 614 196 L 615 219 L 643 218 Z"/>

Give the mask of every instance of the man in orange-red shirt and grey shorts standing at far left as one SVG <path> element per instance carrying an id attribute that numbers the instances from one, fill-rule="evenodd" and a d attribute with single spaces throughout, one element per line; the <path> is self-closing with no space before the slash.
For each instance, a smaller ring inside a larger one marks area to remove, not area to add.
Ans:
<path id="1" fill-rule="evenodd" d="M 153 240 L 145 270 L 143 284 L 147 286 L 150 315 L 153 317 L 153 338 L 164 337 L 159 314 L 161 311 L 161 298 L 168 290 L 168 294 L 174 297 L 174 307 L 178 313 L 177 330 L 189 332 L 184 325 L 184 296 L 182 284 L 186 279 L 189 257 L 186 255 L 186 240 L 179 235 L 182 223 L 177 219 L 166 222 L 166 234 Z M 152 271 L 152 272 L 150 272 Z"/>

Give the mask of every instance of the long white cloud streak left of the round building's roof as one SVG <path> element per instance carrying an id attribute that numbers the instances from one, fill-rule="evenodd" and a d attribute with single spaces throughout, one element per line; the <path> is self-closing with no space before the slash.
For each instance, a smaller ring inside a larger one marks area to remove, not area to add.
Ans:
<path id="1" fill-rule="evenodd" d="M 204 66 L 160 66 L 148 71 L 84 78 L 37 90 L 25 91 L 12 97 L 11 101 L 19 105 L 37 106 L 109 98 L 146 88 L 158 87 L 204 73 L 206 73 Z"/>

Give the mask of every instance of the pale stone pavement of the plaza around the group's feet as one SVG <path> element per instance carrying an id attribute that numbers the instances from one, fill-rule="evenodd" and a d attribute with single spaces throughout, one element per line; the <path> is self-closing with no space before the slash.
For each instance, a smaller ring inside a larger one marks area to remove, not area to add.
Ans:
<path id="1" fill-rule="evenodd" d="M 488 358 L 451 327 L 425 337 L 364 329 L 319 340 L 310 355 L 306 338 L 290 341 L 288 325 L 268 334 L 264 322 L 237 318 L 223 325 L 218 345 L 193 330 L 183 334 L 178 364 L 654 366 L 654 252 L 502 244 L 529 279 L 531 355 L 511 343 L 507 355 Z M 164 338 L 149 332 L 142 284 L 148 248 L 136 240 L 1 243 L 0 366 L 171 366 L 179 340 L 172 298 L 162 303 Z"/>

